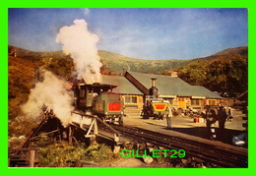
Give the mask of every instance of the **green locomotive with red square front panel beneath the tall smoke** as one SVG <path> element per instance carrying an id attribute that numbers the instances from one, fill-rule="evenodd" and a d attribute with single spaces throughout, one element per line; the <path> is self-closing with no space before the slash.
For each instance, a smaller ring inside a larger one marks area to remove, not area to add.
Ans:
<path id="1" fill-rule="evenodd" d="M 123 100 L 112 92 L 117 86 L 98 84 L 87 85 L 76 81 L 73 85 L 77 110 L 96 115 L 104 122 L 123 125 Z"/>

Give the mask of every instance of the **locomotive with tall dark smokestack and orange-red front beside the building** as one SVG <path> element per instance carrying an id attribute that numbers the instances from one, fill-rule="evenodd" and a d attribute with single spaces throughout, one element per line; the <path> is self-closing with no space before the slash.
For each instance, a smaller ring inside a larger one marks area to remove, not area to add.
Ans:
<path id="1" fill-rule="evenodd" d="M 152 88 L 149 89 L 149 95 L 146 95 L 142 110 L 142 116 L 145 119 L 154 117 L 154 119 L 163 120 L 169 111 L 169 102 L 159 97 L 159 89 L 156 88 L 156 80 L 152 79 Z"/>

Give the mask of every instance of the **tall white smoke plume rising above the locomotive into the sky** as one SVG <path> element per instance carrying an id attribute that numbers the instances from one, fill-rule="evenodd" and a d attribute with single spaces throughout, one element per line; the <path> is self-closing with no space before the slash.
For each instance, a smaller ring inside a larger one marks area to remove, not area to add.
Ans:
<path id="1" fill-rule="evenodd" d="M 87 84 L 100 83 L 99 69 L 102 64 L 97 55 L 98 36 L 88 30 L 85 20 L 75 20 L 73 23 L 59 30 L 56 42 L 61 43 L 64 53 L 74 59 L 79 77 Z"/>

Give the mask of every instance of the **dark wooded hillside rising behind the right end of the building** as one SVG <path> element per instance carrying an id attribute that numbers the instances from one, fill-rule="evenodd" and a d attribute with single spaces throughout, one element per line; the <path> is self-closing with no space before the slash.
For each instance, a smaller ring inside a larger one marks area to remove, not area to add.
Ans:
<path id="1" fill-rule="evenodd" d="M 191 85 L 237 96 L 248 89 L 248 47 L 229 48 L 176 69 Z"/>

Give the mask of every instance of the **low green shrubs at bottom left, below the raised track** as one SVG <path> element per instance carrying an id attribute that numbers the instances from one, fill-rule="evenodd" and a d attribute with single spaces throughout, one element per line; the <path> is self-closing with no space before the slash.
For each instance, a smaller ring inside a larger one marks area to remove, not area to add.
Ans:
<path id="1" fill-rule="evenodd" d="M 111 159 L 113 153 L 110 147 L 96 143 L 86 147 L 83 144 L 69 146 L 67 142 L 59 142 L 41 148 L 38 157 L 40 167 L 80 167 L 85 161 L 97 163 Z"/>

